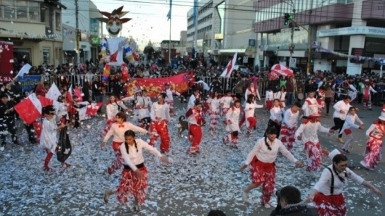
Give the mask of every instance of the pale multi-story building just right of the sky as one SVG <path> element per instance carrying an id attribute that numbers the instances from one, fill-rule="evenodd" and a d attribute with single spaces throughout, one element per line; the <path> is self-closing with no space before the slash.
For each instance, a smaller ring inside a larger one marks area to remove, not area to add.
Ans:
<path id="1" fill-rule="evenodd" d="M 252 66 L 255 60 L 257 37 L 253 30 L 255 22 L 253 6 L 254 1 L 199 1 L 196 24 L 194 8 L 187 12 L 189 47 L 192 47 L 196 40 L 197 53 L 208 53 L 219 61 L 227 61 L 231 55 L 238 53 L 239 57 L 242 57 L 240 64 Z"/>

